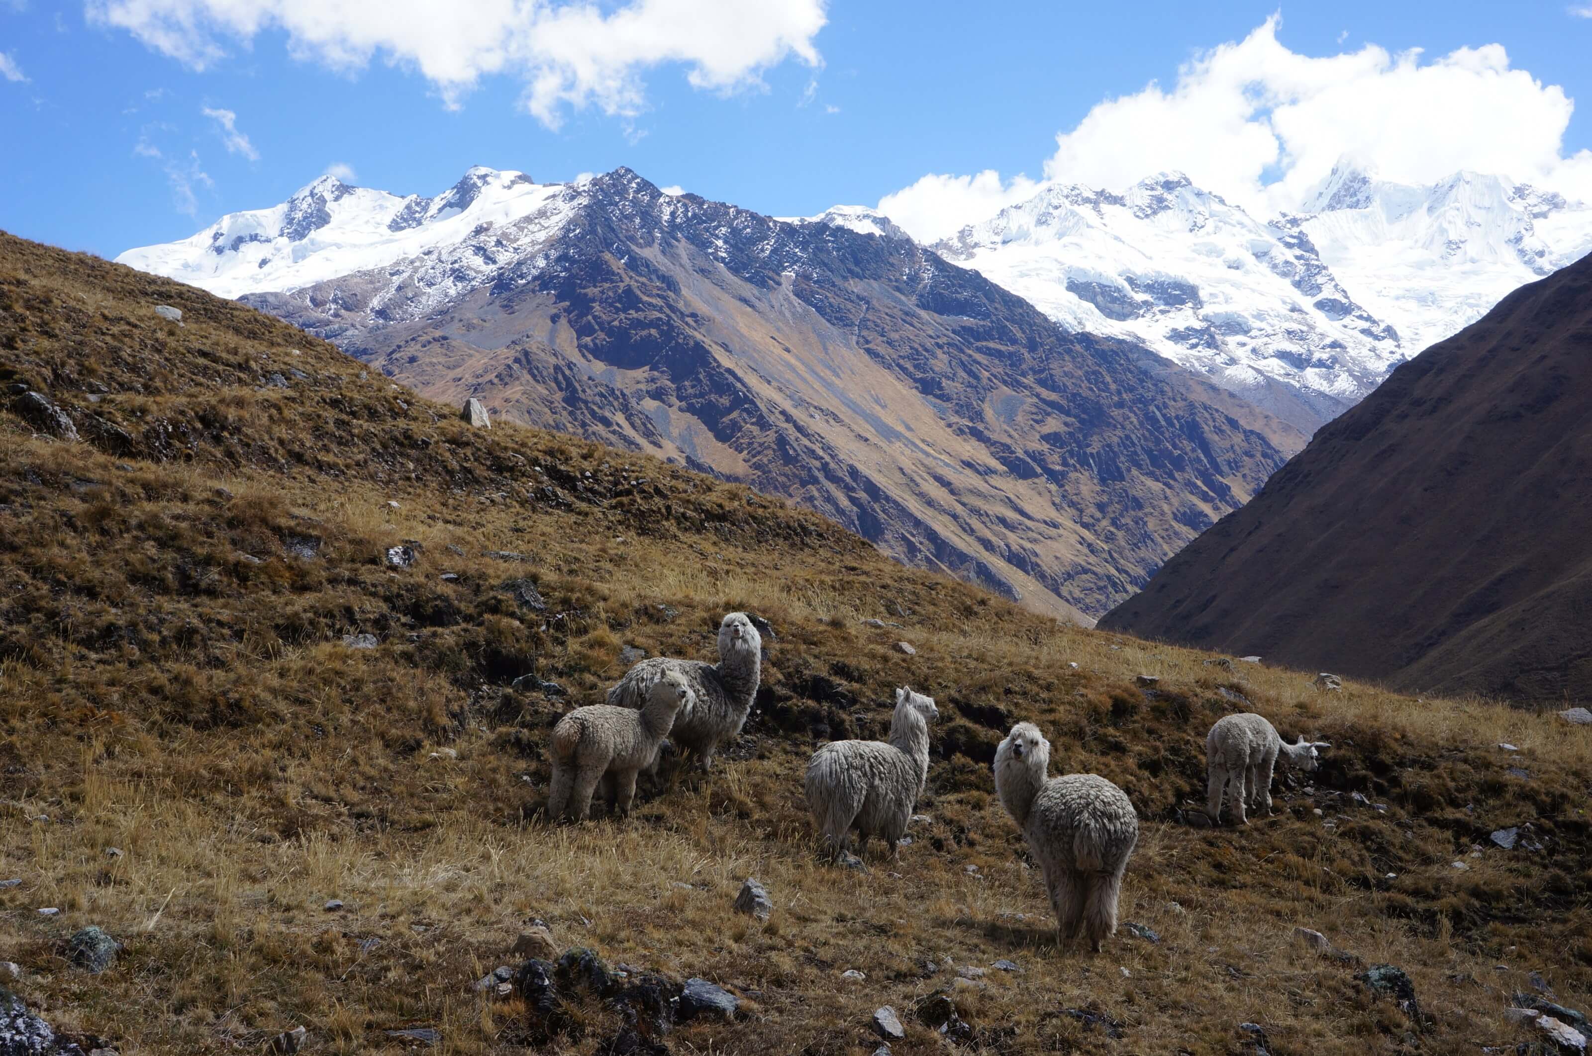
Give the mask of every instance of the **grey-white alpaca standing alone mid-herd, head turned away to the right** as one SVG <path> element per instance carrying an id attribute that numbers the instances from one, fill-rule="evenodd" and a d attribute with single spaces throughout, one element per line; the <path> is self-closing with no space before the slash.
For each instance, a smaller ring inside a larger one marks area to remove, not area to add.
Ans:
<path id="1" fill-rule="evenodd" d="M 831 856 L 847 852 L 850 830 L 856 851 L 880 837 L 892 852 L 906 833 L 912 806 L 928 778 L 928 724 L 939 717 L 931 697 L 896 690 L 890 741 L 831 741 L 807 760 L 807 809 Z"/>

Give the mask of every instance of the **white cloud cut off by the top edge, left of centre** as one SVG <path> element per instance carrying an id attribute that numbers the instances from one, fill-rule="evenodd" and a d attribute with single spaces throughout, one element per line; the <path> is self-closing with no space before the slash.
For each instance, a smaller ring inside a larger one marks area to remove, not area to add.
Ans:
<path id="1" fill-rule="evenodd" d="M 818 67 L 826 0 L 86 0 L 89 21 L 119 27 L 193 68 L 279 29 L 293 56 L 336 70 L 382 57 L 420 72 L 449 105 L 484 76 L 525 84 L 522 105 L 557 127 L 587 105 L 635 116 L 642 73 L 686 67 L 699 89 L 736 91 L 790 57 Z"/>

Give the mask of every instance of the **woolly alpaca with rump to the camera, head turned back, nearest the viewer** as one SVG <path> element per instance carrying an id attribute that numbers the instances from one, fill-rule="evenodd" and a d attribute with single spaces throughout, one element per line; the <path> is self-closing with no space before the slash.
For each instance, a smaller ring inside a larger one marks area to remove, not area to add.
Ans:
<path id="1" fill-rule="evenodd" d="M 1100 953 L 1116 934 L 1116 899 L 1127 859 L 1138 843 L 1134 805 L 1105 778 L 1046 778 L 1051 743 L 1032 722 L 1019 722 L 995 749 L 995 790 L 1040 862 L 1065 946 L 1079 930 Z"/>

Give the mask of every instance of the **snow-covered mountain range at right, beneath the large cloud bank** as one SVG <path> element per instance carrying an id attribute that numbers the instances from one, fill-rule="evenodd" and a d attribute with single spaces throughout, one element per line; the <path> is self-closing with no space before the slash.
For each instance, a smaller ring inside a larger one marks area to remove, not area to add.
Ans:
<path id="1" fill-rule="evenodd" d="M 931 248 L 1068 329 L 1140 340 L 1309 434 L 1584 256 L 1592 208 L 1500 177 L 1406 186 L 1340 164 L 1301 213 L 1261 223 L 1162 173 L 1122 194 L 1049 184 Z"/>

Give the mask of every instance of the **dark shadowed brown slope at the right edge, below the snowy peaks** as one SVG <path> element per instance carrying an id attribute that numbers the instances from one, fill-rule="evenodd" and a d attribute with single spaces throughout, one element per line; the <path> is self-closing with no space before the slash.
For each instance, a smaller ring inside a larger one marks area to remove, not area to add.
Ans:
<path id="1" fill-rule="evenodd" d="M 1592 258 L 1398 367 L 1103 627 L 1592 697 Z"/>

